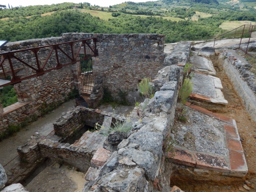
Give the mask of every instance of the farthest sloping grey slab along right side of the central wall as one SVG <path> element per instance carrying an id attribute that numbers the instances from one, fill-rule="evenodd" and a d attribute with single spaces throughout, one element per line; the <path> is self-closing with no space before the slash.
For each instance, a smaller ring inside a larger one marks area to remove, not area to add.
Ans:
<path id="1" fill-rule="evenodd" d="M 189 57 L 189 63 L 193 65 L 192 68 L 196 71 L 204 72 L 207 75 L 216 76 L 216 71 L 213 68 L 211 60 L 195 55 Z"/>

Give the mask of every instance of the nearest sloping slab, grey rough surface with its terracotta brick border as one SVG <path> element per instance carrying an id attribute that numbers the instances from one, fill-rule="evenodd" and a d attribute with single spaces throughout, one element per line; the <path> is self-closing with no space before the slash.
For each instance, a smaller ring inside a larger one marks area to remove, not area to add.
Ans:
<path id="1" fill-rule="evenodd" d="M 188 120 L 174 126 L 175 156 L 169 153 L 169 161 L 243 177 L 248 168 L 236 121 L 189 102 L 186 106 Z"/>

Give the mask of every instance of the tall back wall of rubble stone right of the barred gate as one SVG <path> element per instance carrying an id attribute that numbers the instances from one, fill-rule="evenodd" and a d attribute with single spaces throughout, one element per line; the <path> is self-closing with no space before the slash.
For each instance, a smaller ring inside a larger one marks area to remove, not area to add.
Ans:
<path id="1" fill-rule="evenodd" d="M 164 63 L 164 35 L 159 34 L 76 34 L 66 33 L 68 40 L 97 37 L 99 57 L 93 58 L 93 76 L 104 77 L 103 86 L 117 97 L 127 91 L 127 99 L 134 102 L 139 81 L 156 76 Z M 94 93 L 95 94 L 95 93 Z M 97 95 L 91 94 L 91 98 Z"/>

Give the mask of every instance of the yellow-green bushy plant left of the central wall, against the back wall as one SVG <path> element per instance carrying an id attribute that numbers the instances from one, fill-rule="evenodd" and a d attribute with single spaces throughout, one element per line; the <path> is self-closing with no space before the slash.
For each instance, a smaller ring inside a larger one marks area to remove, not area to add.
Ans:
<path id="1" fill-rule="evenodd" d="M 138 84 L 138 90 L 141 95 L 144 95 L 147 98 L 152 97 L 152 95 L 155 94 L 155 89 L 151 83 L 151 78 L 150 77 L 143 78 L 141 82 Z"/>

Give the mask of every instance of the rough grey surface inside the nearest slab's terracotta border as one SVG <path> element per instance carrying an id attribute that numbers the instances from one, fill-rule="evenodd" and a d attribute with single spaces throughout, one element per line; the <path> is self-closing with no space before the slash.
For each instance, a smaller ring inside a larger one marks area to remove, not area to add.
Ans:
<path id="1" fill-rule="evenodd" d="M 177 124 L 175 140 L 178 146 L 190 150 L 228 156 L 224 122 L 191 108 L 186 108 L 189 122 Z"/>

